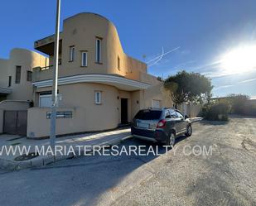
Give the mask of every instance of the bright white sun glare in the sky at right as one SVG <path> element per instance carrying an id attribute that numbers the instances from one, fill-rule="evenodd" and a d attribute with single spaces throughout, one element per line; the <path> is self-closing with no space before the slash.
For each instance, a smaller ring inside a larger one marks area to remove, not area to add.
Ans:
<path id="1" fill-rule="evenodd" d="M 221 58 L 221 67 L 227 74 L 256 70 L 256 46 L 239 46 Z"/>

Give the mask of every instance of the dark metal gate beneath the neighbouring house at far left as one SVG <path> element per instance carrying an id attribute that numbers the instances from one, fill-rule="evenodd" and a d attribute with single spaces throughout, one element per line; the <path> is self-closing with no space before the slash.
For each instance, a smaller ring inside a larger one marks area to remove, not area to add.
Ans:
<path id="1" fill-rule="evenodd" d="M 4 111 L 3 132 L 27 136 L 27 111 Z"/>

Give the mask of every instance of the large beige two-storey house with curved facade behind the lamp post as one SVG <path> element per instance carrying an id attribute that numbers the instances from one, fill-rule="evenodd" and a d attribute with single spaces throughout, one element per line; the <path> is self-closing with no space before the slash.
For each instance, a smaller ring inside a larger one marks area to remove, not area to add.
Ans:
<path id="1" fill-rule="evenodd" d="M 33 70 L 34 108 L 27 137 L 48 137 L 54 36 L 35 41 L 49 66 Z M 60 32 L 57 135 L 102 131 L 131 122 L 140 108 L 171 107 L 172 101 L 147 65 L 123 52 L 112 22 L 94 13 L 67 18 Z"/>

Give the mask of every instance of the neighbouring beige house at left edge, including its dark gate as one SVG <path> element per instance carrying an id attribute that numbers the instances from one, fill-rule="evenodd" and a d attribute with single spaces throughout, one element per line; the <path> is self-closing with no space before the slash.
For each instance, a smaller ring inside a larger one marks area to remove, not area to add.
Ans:
<path id="1" fill-rule="evenodd" d="M 27 134 L 27 108 L 33 100 L 32 69 L 48 64 L 47 57 L 19 48 L 11 50 L 9 59 L 0 59 L 0 133 Z"/>

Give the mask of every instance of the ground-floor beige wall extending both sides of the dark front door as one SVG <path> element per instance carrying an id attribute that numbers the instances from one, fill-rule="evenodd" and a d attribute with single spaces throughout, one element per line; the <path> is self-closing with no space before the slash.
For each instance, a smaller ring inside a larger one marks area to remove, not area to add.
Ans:
<path id="1" fill-rule="evenodd" d="M 105 84 L 66 84 L 59 86 L 62 100 L 58 111 L 72 111 L 72 119 L 57 119 L 58 135 L 75 132 L 100 131 L 118 127 L 121 122 L 121 98 L 128 98 L 128 122 L 131 122 L 139 109 L 152 107 L 152 99 L 161 100 L 162 107 L 171 107 L 172 102 L 157 84 L 143 91 L 123 91 Z M 28 137 L 48 137 L 50 120 L 46 112 L 51 108 L 38 108 L 40 92 L 51 88 L 36 89 L 35 108 L 28 109 Z M 102 92 L 102 104 L 94 103 L 94 92 Z M 160 92 L 159 92 L 160 91 Z"/>

